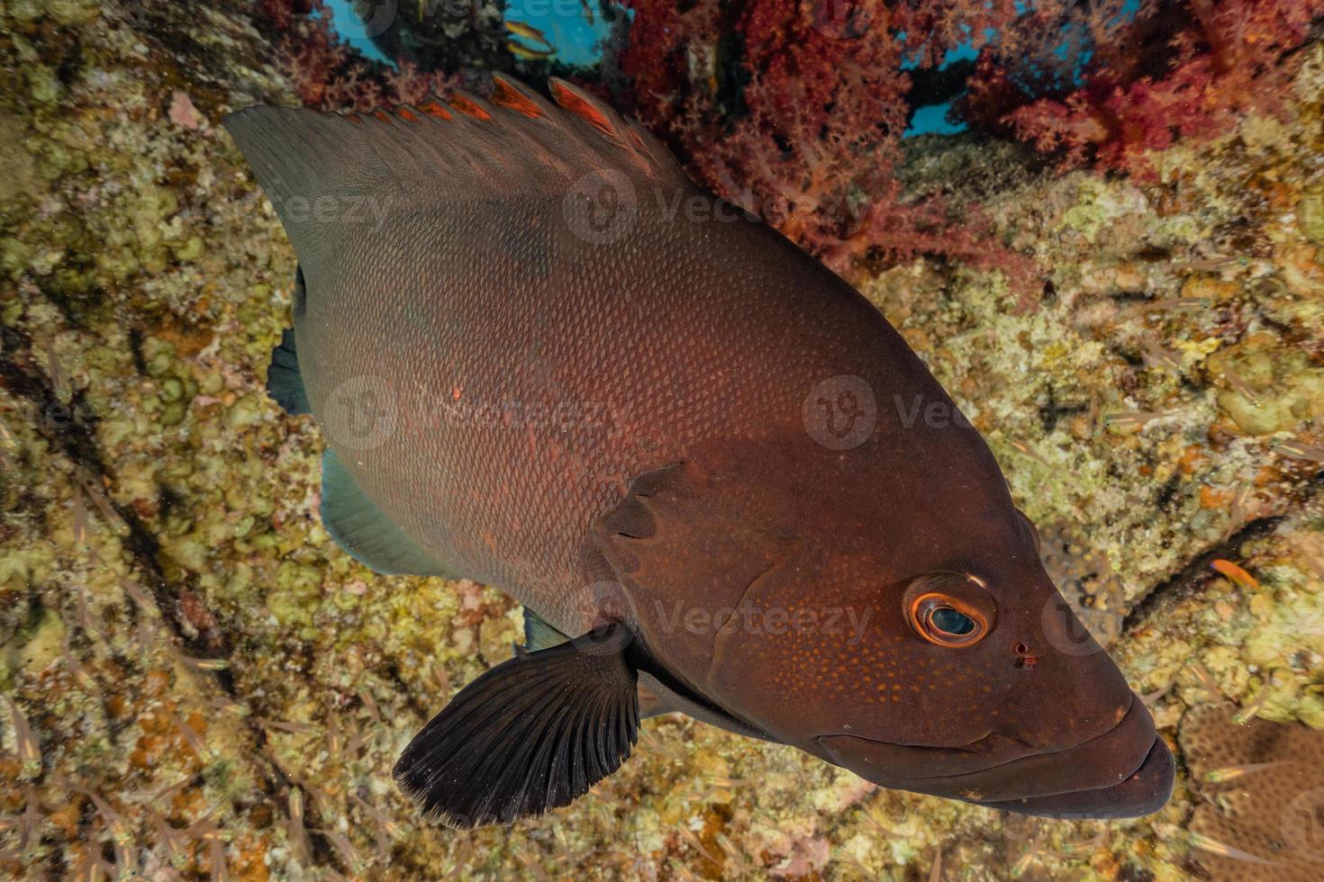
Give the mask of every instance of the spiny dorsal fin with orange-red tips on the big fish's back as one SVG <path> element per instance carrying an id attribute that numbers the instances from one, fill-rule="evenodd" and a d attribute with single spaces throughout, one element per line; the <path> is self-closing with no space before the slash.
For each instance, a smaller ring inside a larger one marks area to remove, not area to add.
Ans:
<path id="1" fill-rule="evenodd" d="M 339 218 L 364 201 L 404 214 L 531 193 L 560 198 L 608 169 L 642 186 L 691 186 L 653 135 L 581 89 L 552 81 L 553 103 L 508 77 L 495 82 L 491 102 L 461 91 L 350 115 L 249 107 L 225 127 L 306 262 L 338 247 L 310 213 Z"/>

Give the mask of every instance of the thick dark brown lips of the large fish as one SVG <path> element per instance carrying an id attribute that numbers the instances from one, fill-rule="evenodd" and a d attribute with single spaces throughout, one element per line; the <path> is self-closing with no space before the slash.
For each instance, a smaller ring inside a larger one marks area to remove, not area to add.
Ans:
<path id="1" fill-rule="evenodd" d="M 1043 817 L 1139 817 L 1172 795 L 1172 751 L 1149 710 L 1132 697 L 1117 723 L 1057 750 L 998 734 L 963 747 L 916 747 L 820 735 L 828 758 L 883 787 L 960 799 Z M 925 775 L 941 768 L 941 775 Z"/>

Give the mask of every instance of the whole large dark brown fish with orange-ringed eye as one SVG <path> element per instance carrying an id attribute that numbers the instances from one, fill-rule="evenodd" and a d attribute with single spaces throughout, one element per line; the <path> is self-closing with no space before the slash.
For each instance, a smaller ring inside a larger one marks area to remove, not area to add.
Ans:
<path id="1" fill-rule="evenodd" d="M 402 789 L 455 825 L 564 805 L 642 709 L 980 805 L 1161 807 L 1149 713 L 902 337 L 641 126 L 551 94 L 225 122 L 299 257 L 270 387 L 326 434 L 327 530 L 531 614 Z"/>

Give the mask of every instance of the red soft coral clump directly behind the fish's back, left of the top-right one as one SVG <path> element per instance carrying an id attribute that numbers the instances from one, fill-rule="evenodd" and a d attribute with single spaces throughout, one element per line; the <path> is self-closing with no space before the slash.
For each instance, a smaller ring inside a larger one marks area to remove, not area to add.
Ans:
<path id="1" fill-rule="evenodd" d="M 937 200 L 903 204 L 894 168 L 910 107 L 903 61 L 936 65 L 1017 15 L 1013 0 L 634 0 L 621 69 L 634 110 L 722 196 L 838 271 L 916 254 L 1034 264 Z M 904 34 L 904 36 L 903 36 Z"/>

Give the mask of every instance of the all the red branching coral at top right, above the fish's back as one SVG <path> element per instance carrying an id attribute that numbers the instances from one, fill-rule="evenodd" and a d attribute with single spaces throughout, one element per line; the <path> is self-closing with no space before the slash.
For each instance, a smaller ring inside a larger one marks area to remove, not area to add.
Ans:
<path id="1" fill-rule="evenodd" d="M 959 114 L 1066 165 L 1149 171 L 1147 151 L 1280 110 L 1321 0 L 633 0 L 634 111 L 691 171 L 837 270 L 918 254 L 1034 264 L 977 206 L 904 200 L 894 171 L 911 71 L 980 50 Z"/>

